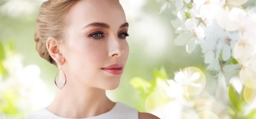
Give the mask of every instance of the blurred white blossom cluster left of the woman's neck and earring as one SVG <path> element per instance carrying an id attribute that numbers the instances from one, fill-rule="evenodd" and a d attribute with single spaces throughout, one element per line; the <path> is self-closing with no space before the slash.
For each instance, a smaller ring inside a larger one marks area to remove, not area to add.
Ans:
<path id="1" fill-rule="evenodd" d="M 6 55 L 3 66 L 8 75 L 5 80 L 0 80 L 0 91 L 11 88 L 17 93 L 19 98 L 14 106 L 24 112 L 46 106 L 49 100 L 44 99 L 47 97 L 47 90 L 45 83 L 40 79 L 40 68 L 37 65 L 24 67 L 21 55 L 8 51 L 6 51 Z M 24 101 L 31 103 L 24 105 Z"/>

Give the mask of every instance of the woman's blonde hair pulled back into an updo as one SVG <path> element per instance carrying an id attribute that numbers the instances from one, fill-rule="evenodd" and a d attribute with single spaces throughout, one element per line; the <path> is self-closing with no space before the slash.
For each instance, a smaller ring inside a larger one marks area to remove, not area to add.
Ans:
<path id="1" fill-rule="evenodd" d="M 63 39 L 67 27 L 67 13 L 79 0 L 47 0 L 42 3 L 35 26 L 35 43 L 38 54 L 51 64 L 56 62 L 49 55 L 46 41 L 49 37 Z"/>

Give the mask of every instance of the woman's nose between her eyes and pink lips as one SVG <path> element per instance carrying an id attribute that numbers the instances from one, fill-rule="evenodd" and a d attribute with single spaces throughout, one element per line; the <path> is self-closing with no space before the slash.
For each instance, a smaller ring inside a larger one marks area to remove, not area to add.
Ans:
<path id="1" fill-rule="evenodd" d="M 108 56 L 111 58 L 118 58 L 121 56 L 122 43 L 120 39 L 115 36 L 108 40 Z"/>

